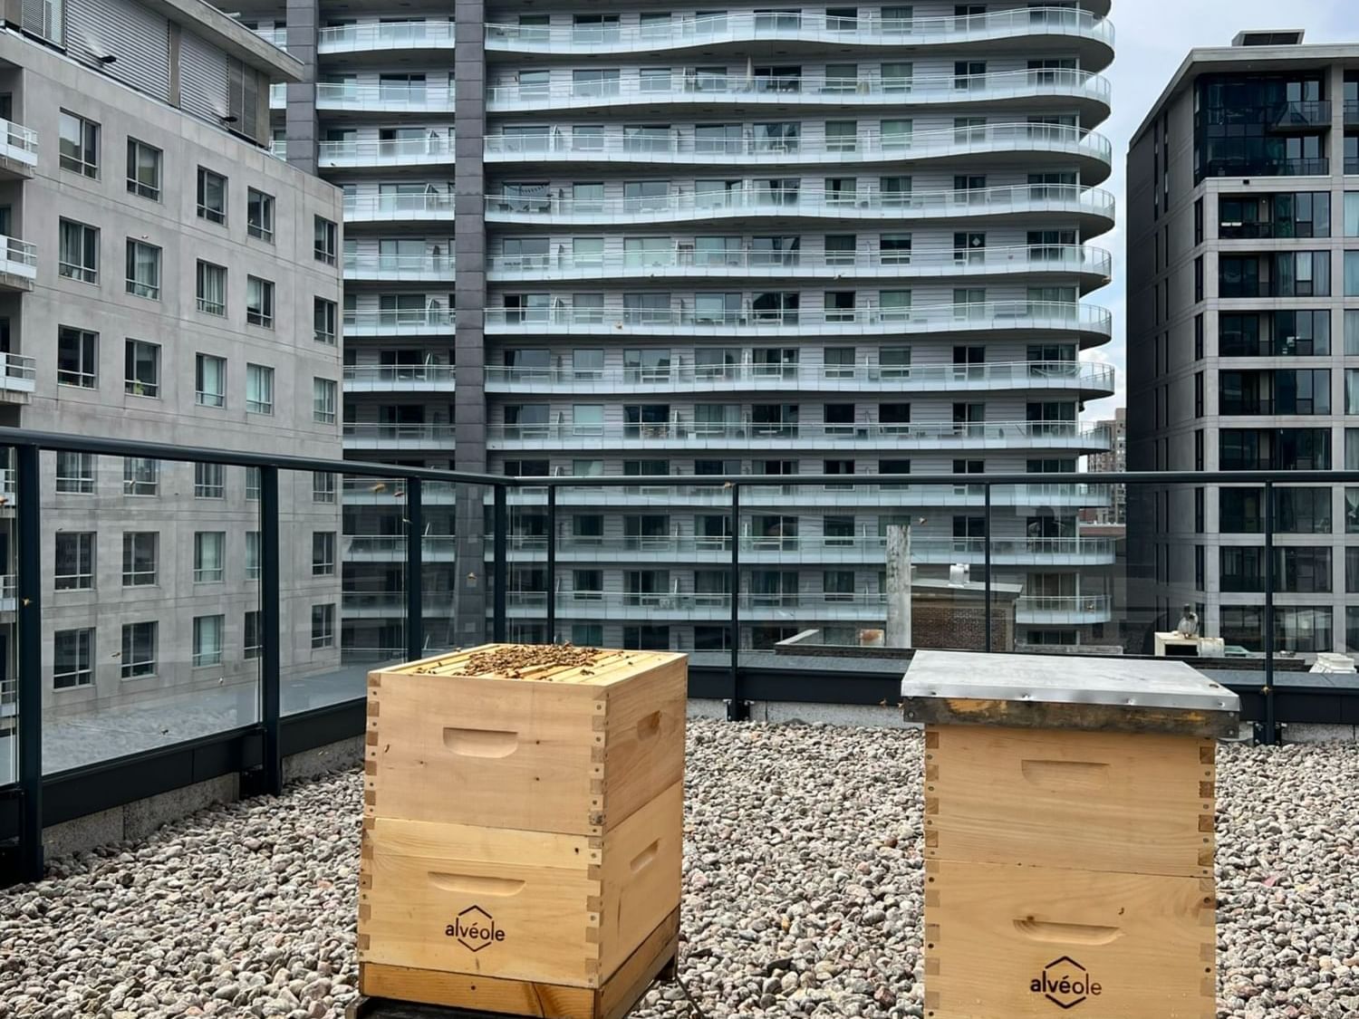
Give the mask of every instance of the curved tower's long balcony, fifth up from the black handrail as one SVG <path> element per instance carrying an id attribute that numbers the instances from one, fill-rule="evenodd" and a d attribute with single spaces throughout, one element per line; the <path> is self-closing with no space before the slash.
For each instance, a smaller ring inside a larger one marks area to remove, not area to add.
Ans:
<path id="1" fill-rule="evenodd" d="M 402 196 L 404 197 L 404 196 Z M 412 196 L 419 197 L 419 196 Z M 451 207 L 453 198 L 448 204 Z M 932 219 L 992 221 L 1072 216 L 1083 238 L 1113 228 L 1114 197 L 1098 187 L 1070 183 L 1022 183 L 999 187 L 939 192 L 883 192 L 864 186 L 855 192 L 815 187 L 772 190 L 753 181 L 735 190 L 696 192 L 673 186 L 670 194 L 637 198 L 575 200 L 561 190 L 541 196 L 488 194 L 487 221 L 553 227 L 650 226 L 689 223 L 694 219 L 750 220 L 882 220 Z"/>

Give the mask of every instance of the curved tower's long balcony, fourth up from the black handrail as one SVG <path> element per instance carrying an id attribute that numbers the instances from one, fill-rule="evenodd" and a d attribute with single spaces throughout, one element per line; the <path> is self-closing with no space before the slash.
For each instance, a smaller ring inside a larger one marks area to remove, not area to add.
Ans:
<path id="1" fill-rule="evenodd" d="M 654 279 L 970 279 L 1078 277 L 1083 291 L 1109 283 L 1112 255 L 1082 245 L 1018 245 L 943 251 L 696 251 L 675 243 L 666 251 L 617 251 L 575 257 L 491 255 L 487 279 L 654 280 Z M 1018 280 L 1015 280 L 1018 281 Z"/>

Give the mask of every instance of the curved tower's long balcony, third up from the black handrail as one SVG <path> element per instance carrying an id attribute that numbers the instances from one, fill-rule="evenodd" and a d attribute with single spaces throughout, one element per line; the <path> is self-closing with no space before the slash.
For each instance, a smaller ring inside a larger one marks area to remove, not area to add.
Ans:
<path id="1" fill-rule="evenodd" d="M 693 311 L 690 308 L 572 307 L 488 308 L 487 336 L 904 336 L 977 333 L 992 338 L 1056 332 L 1076 334 L 1083 346 L 1109 341 L 1113 317 L 1093 304 L 996 300 L 976 304 L 925 304 L 913 308 L 832 311 Z M 345 326 L 348 329 L 348 315 Z"/>

